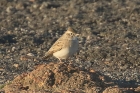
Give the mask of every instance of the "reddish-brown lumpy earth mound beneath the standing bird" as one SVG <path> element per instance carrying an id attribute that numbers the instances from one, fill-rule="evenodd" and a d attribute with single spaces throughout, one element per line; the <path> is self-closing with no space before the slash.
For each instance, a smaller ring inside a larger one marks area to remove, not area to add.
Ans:
<path id="1" fill-rule="evenodd" d="M 94 72 L 77 67 L 72 63 L 49 63 L 38 65 L 35 70 L 17 76 L 10 84 L 3 89 L 5 92 L 17 91 L 91 91 L 105 87 L 102 79 L 104 77 Z M 83 90 L 84 89 L 84 90 Z"/>

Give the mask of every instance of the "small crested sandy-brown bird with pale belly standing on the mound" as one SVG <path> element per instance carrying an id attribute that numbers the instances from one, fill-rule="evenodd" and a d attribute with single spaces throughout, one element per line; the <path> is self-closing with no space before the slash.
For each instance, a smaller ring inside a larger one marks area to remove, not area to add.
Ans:
<path id="1" fill-rule="evenodd" d="M 68 27 L 67 31 L 51 46 L 48 52 L 45 53 L 43 59 L 48 59 L 52 56 L 59 59 L 67 59 L 74 55 L 79 47 L 78 36 L 72 27 Z"/>

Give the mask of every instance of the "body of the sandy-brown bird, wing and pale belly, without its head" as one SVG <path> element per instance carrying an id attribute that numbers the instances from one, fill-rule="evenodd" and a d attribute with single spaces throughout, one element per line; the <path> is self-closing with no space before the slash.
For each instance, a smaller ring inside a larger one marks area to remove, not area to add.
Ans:
<path id="1" fill-rule="evenodd" d="M 62 35 L 49 49 L 45 56 L 55 56 L 56 58 L 66 59 L 72 56 L 78 50 L 77 37 L 71 37 L 67 34 Z"/>

